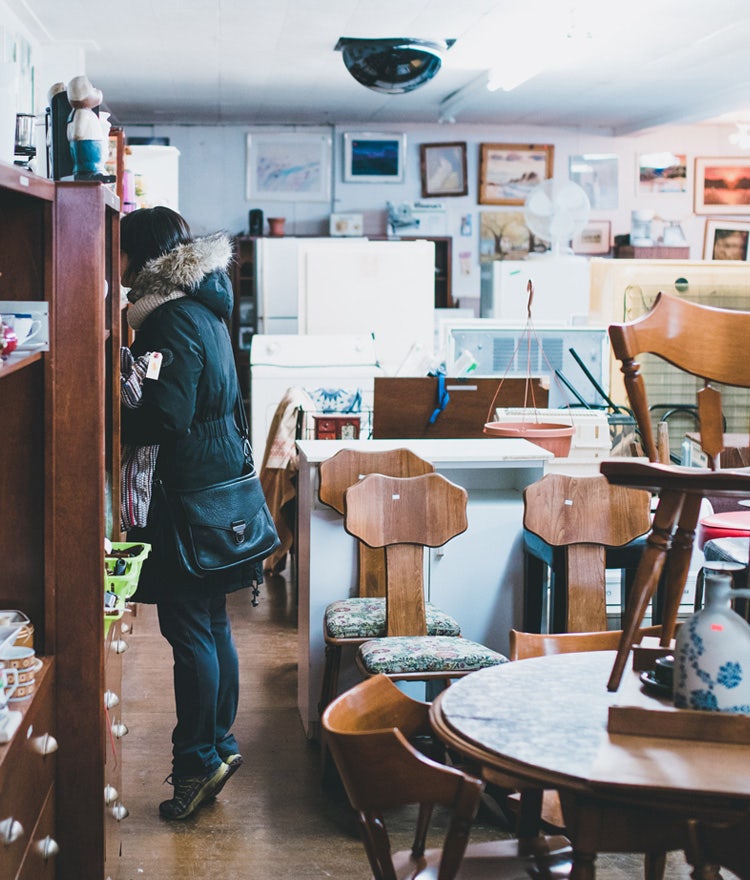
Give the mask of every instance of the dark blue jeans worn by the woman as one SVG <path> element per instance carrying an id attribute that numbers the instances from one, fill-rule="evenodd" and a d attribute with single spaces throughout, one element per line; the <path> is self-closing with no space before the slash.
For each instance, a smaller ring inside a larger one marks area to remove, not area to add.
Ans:
<path id="1" fill-rule="evenodd" d="M 177 725 L 172 773 L 203 776 L 239 751 L 230 733 L 237 714 L 239 664 L 226 596 L 159 602 L 159 628 L 172 646 Z"/>

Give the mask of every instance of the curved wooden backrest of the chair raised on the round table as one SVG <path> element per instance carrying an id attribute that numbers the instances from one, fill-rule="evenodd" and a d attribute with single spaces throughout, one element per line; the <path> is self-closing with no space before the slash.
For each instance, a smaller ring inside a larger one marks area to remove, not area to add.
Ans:
<path id="1" fill-rule="evenodd" d="M 717 467 L 724 446 L 721 393 L 709 383 L 750 388 L 750 358 L 745 348 L 748 334 L 750 312 L 698 305 L 667 293 L 660 293 L 642 317 L 610 326 L 612 351 L 621 362 L 628 400 L 651 461 L 658 461 L 659 453 L 636 357 L 657 355 L 703 380 L 697 394 L 701 445 L 712 466 Z"/>

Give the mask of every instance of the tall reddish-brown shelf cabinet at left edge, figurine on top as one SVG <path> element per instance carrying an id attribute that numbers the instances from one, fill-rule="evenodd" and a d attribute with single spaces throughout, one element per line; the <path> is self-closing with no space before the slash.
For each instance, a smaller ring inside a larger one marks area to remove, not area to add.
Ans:
<path id="1" fill-rule="evenodd" d="M 49 351 L 16 352 L 0 367 L 0 607 L 31 618 L 45 663 L 44 687 L 0 746 L 0 779 L 21 772 L 25 788 L 39 792 L 36 813 L 21 823 L 24 856 L 0 875 L 102 880 L 103 542 L 119 537 L 115 195 L 98 183 L 52 183 L 0 164 L 0 300 L 46 301 L 50 329 Z M 42 770 L 20 748 L 30 739 L 26 717 L 36 715 L 49 716 L 59 746 Z M 27 809 L 7 802 L 4 785 L 0 791 L 0 821 Z"/>

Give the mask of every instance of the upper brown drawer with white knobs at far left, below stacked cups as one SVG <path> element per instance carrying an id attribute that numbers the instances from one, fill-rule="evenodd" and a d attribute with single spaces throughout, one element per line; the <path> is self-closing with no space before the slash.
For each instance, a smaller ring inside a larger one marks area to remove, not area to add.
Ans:
<path id="1" fill-rule="evenodd" d="M 0 877 L 15 877 L 55 779 L 55 751 L 44 754 L 45 735 L 54 735 L 54 670 L 49 662 L 37 675 L 37 692 L 23 712 L 10 743 L 0 747 L 0 822 L 20 824 L 18 838 L 0 846 Z M 10 824 L 10 823 L 9 823 Z"/>

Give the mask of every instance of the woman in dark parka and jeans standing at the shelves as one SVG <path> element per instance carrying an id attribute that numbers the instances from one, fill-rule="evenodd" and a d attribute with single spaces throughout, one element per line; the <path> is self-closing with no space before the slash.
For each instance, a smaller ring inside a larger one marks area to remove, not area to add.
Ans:
<path id="1" fill-rule="evenodd" d="M 252 461 L 236 419 L 225 324 L 233 302 L 229 239 L 194 239 L 179 214 L 156 207 L 122 218 L 120 249 L 131 351 L 148 363 L 139 405 L 122 411 L 123 441 L 158 446 L 154 479 L 165 487 L 197 489 L 240 476 Z M 133 600 L 156 604 L 174 657 L 174 791 L 159 812 L 185 819 L 242 763 L 232 733 L 239 671 L 226 594 L 247 587 L 257 594 L 262 562 L 193 577 L 179 563 L 168 523 L 163 496 L 154 492 L 145 526 L 129 531 L 128 540 L 152 545 Z"/>

